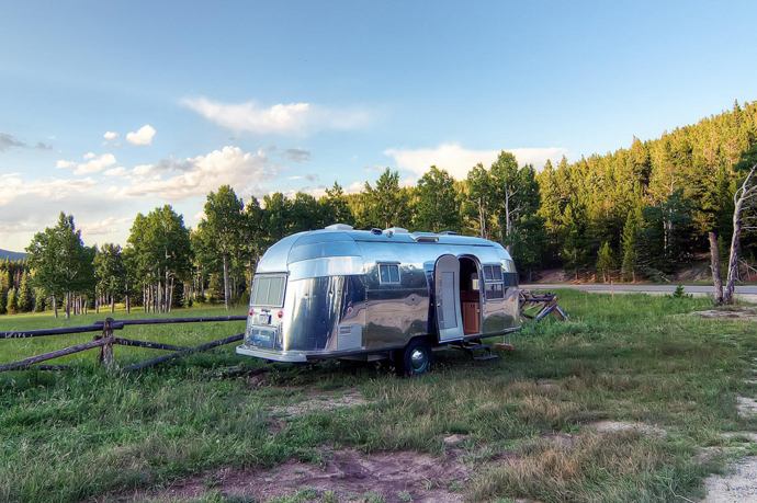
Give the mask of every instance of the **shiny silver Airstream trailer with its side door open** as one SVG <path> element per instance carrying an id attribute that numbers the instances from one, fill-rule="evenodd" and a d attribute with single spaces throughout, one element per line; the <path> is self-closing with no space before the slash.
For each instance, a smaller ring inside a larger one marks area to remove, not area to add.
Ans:
<path id="1" fill-rule="evenodd" d="M 276 362 L 391 358 L 520 328 L 518 276 L 499 244 L 452 232 L 334 225 L 273 244 L 256 270 L 240 355 Z"/>

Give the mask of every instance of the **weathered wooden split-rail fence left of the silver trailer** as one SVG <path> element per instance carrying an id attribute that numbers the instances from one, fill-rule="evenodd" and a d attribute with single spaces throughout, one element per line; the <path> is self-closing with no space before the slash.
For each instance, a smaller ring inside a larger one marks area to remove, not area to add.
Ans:
<path id="1" fill-rule="evenodd" d="M 29 358 L 20 359 L 18 362 L 10 362 L 5 364 L 0 364 L 0 373 L 7 370 L 21 370 L 25 368 L 36 368 L 43 370 L 59 370 L 68 368 L 66 365 L 38 365 L 42 362 L 47 362 L 50 359 L 59 358 L 61 356 L 80 353 L 82 351 L 100 348 L 100 355 L 98 362 L 109 369 L 115 368 L 115 358 L 113 355 L 113 346 L 133 346 L 133 347 L 145 347 L 148 350 L 162 350 L 170 351 L 171 353 L 160 355 L 155 358 L 150 358 L 144 362 L 139 362 L 133 365 L 124 367 L 122 370 L 131 371 L 138 370 L 146 367 L 151 367 L 163 362 L 180 358 L 193 353 L 201 351 L 212 350 L 224 344 L 230 344 L 236 341 L 241 341 L 245 336 L 244 333 L 237 333 L 235 335 L 229 335 L 224 339 L 217 339 L 210 341 L 197 346 L 179 346 L 174 344 L 165 344 L 161 342 L 151 341 L 137 341 L 134 339 L 117 338 L 113 333 L 116 330 L 124 330 L 128 325 L 135 324 L 169 324 L 169 323 L 204 323 L 204 322 L 217 322 L 217 321 L 242 321 L 246 320 L 246 316 L 226 316 L 226 317 L 201 317 L 201 318 L 157 318 L 157 319 L 135 319 L 135 320 L 114 320 L 112 318 L 106 318 L 104 321 L 98 321 L 93 324 L 83 327 L 68 327 L 68 328 L 57 328 L 57 329 L 39 329 L 39 330 L 27 330 L 27 331 L 10 331 L 0 332 L 0 341 L 10 339 L 27 339 L 27 338 L 42 338 L 42 336 L 55 336 L 55 335 L 67 335 L 72 333 L 91 333 L 95 332 L 92 341 L 84 342 L 81 344 L 76 344 L 72 346 L 64 347 L 56 351 L 50 351 L 48 353 L 43 353 L 35 356 L 30 356 Z"/>

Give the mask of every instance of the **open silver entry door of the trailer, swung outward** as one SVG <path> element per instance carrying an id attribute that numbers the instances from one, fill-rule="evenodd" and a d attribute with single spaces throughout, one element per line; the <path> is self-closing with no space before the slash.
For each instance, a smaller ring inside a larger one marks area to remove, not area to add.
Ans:
<path id="1" fill-rule="evenodd" d="M 437 328 L 439 342 L 463 339 L 463 317 L 460 311 L 460 261 L 454 255 L 441 255 L 433 267 Z"/>

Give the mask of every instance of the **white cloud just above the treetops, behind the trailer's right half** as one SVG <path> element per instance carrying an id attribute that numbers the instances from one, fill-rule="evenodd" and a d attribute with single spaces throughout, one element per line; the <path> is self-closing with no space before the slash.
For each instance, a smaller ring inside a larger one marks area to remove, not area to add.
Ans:
<path id="1" fill-rule="evenodd" d="M 546 148 L 509 148 L 502 149 L 512 152 L 518 159 L 519 164 L 533 164 L 541 169 L 547 159 L 553 162 L 562 156 L 567 155 L 567 150 L 558 147 Z M 499 150 L 473 150 L 463 148 L 460 144 L 441 144 L 434 148 L 427 149 L 388 149 L 385 156 L 394 159 L 398 168 L 422 174 L 431 165 L 444 169 L 457 180 L 464 179 L 467 172 L 478 162 L 489 167 Z"/>

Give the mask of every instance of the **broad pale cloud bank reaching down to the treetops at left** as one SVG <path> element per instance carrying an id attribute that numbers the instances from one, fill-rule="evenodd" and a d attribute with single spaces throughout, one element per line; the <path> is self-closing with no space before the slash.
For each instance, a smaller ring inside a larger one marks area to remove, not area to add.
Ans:
<path id="1" fill-rule="evenodd" d="M 247 152 L 231 146 L 137 167 L 120 165 L 114 157 L 111 164 L 108 156 L 60 160 L 57 165 L 67 171 L 58 171 L 57 178 L 0 173 L 0 245 L 23 250 L 35 232 L 55 224 L 61 210 L 76 217 L 88 244 L 124 244 L 136 212 L 177 202 L 178 210 L 193 215 L 207 192 L 222 184 L 230 184 L 246 198 L 260 196 L 273 186 L 280 171 L 263 150 Z M 102 176 L 72 176 L 80 167 L 89 170 L 93 162 L 103 161 L 109 165 L 100 172 Z"/>

